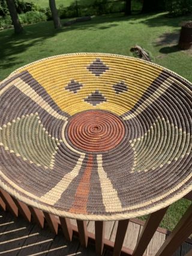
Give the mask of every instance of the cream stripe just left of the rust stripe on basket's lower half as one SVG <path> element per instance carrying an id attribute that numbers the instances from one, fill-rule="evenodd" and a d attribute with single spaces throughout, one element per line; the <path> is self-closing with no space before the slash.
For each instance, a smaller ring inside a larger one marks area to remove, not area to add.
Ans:
<path id="1" fill-rule="evenodd" d="M 80 168 L 82 166 L 83 160 L 85 159 L 85 156 L 80 156 L 79 160 L 76 163 L 76 166 L 74 166 L 73 170 L 71 172 L 68 172 L 62 180 L 56 184 L 55 187 L 53 187 L 49 192 L 44 194 L 41 197 L 41 201 L 44 203 L 50 204 L 53 206 L 60 198 L 63 192 L 67 189 L 67 187 L 70 185 L 70 183 L 74 180 L 74 178 L 77 177 L 79 174 Z"/>

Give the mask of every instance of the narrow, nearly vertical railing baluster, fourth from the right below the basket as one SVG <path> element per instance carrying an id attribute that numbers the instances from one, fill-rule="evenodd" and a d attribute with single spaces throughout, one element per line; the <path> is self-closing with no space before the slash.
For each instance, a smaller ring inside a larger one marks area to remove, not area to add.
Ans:
<path id="1" fill-rule="evenodd" d="M 95 249 L 98 255 L 103 252 L 104 246 L 105 222 L 95 221 Z"/>

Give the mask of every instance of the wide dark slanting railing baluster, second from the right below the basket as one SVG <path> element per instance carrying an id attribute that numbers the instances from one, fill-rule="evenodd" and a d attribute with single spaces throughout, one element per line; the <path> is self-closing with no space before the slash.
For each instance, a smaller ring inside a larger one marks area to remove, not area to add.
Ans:
<path id="1" fill-rule="evenodd" d="M 136 248 L 134 249 L 134 256 L 144 254 L 147 246 L 149 245 L 149 242 L 152 239 L 152 236 L 154 236 L 155 231 L 157 230 L 158 225 L 163 219 L 163 216 L 165 215 L 167 209 L 168 207 L 158 210 L 157 212 L 154 212 L 151 215 L 149 215 L 143 227 L 142 233 L 139 236 Z"/>

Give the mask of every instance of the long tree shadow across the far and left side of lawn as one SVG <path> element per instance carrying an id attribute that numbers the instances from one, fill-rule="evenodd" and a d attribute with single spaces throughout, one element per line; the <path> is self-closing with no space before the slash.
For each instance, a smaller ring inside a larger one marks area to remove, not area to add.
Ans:
<path id="1" fill-rule="evenodd" d="M 25 32 L 22 35 L 13 35 L 13 29 L 7 29 L 0 32 L 0 69 L 8 69 L 13 66 L 22 66 L 26 64 L 26 59 L 20 58 L 20 53 L 25 52 L 30 47 L 38 46 L 44 43 L 47 38 L 52 38 L 59 33 L 71 30 L 91 30 L 110 29 L 119 26 L 121 22 L 128 22 L 130 26 L 135 23 L 146 23 L 149 26 L 167 25 L 167 19 L 164 14 L 139 14 L 134 16 L 124 16 L 124 14 L 107 14 L 94 17 L 87 22 L 74 23 L 71 26 L 63 26 L 61 29 L 54 29 L 53 22 L 40 22 L 34 25 L 25 26 Z M 170 19 L 172 20 L 172 19 Z M 174 20 L 174 22 L 173 22 Z M 173 19 L 172 26 L 178 26 L 178 19 Z M 66 22 L 66 20 L 62 20 Z M 42 50 L 42 47 L 41 47 Z M 46 49 L 43 49 L 46 55 Z M 51 50 L 49 50 L 49 53 Z M 54 51 L 53 51 L 54 52 Z M 29 58 L 28 62 L 31 62 Z"/>

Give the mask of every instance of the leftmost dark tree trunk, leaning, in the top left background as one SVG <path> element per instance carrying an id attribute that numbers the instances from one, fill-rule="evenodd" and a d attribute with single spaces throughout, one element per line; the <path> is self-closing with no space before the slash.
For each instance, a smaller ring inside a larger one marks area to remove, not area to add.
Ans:
<path id="1" fill-rule="evenodd" d="M 14 0 L 6 0 L 6 1 L 7 1 L 8 10 L 10 11 L 11 20 L 13 22 L 14 32 L 16 34 L 20 34 L 23 32 L 23 28 L 19 21 L 19 17 L 17 15 L 16 5 L 14 3 Z"/>

